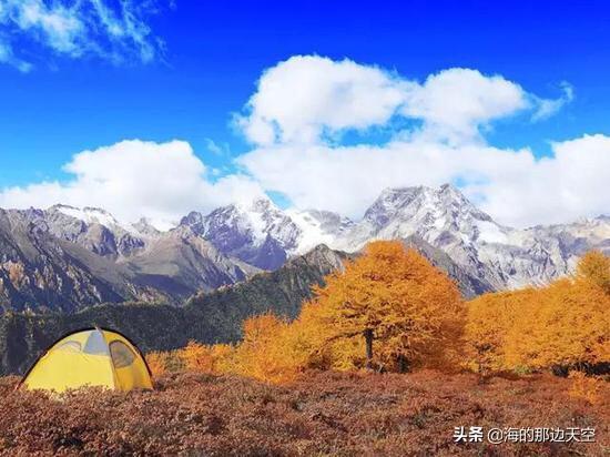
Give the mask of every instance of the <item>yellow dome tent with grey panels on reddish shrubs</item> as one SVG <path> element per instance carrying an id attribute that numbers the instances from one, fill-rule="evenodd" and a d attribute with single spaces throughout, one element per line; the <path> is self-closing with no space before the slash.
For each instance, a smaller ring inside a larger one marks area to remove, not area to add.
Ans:
<path id="1" fill-rule="evenodd" d="M 142 353 L 124 335 L 105 328 L 73 332 L 38 358 L 18 388 L 58 393 L 83 386 L 116 390 L 152 388 Z"/>

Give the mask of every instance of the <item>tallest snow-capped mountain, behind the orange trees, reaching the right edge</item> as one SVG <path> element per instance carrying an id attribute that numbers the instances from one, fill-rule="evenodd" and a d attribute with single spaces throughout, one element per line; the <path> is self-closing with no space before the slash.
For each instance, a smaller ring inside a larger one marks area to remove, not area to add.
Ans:
<path id="1" fill-rule="evenodd" d="M 517 230 L 496 223 L 448 184 L 392 189 L 334 246 L 352 252 L 369 240 L 417 235 L 468 274 L 502 290 L 547 283 L 568 274 L 587 250 L 603 247 L 608 222 L 581 224 Z"/>

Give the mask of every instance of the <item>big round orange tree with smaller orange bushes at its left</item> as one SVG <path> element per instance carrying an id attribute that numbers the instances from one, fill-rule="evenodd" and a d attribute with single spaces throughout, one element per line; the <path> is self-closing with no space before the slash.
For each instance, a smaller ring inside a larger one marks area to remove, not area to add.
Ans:
<path id="1" fill-rule="evenodd" d="M 446 363 L 456 347 L 464 324 L 456 285 L 401 243 L 372 243 L 325 281 L 296 321 L 245 321 L 225 373 L 288 383 L 308 368 L 405 370 Z M 210 370 L 210 351 L 190 344 L 187 367 Z"/>

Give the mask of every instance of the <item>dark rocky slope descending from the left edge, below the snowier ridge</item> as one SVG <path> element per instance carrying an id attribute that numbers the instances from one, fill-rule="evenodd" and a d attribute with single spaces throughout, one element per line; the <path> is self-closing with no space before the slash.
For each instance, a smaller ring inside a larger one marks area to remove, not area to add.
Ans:
<path id="1" fill-rule="evenodd" d="M 0 306 L 70 312 L 145 293 L 122 267 L 0 211 Z"/>

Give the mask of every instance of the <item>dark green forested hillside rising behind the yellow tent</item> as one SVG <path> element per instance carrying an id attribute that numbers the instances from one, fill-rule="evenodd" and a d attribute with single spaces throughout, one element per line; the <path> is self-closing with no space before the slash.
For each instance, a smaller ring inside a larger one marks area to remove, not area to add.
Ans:
<path id="1" fill-rule="evenodd" d="M 142 351 L 172 349 L 189 339 L 236 342 L 245 318 L 268 311 L 294 318 L 313 284 L 340 267 L 345 254 L 319 246 L 282 268 L 200 294 L 183 307 L 146 303 L 105 304 L 73 314 L 0 316 L 0 374 L 23 373 L 61 335 L 98 325 L 125 333 Z"/>

